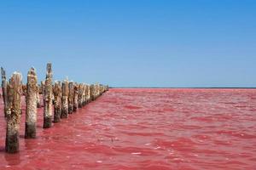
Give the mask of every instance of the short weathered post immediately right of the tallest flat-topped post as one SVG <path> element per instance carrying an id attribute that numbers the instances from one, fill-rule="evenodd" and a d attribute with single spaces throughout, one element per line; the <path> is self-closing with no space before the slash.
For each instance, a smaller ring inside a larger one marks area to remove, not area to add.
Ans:
<path id="1" fill-rule="evenodd" d="M 61 81 L 55 82 L 54 95 L 55 95 L 55 115 L 54 122 L 61 122 Z"/>

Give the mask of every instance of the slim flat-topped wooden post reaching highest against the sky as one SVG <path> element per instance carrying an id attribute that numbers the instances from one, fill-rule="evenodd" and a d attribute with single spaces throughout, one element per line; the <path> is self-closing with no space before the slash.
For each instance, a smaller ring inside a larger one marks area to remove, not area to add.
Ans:
<path id="1" fill-rule="evenodd" d="M 44 87 L 44 128 L 51 127 L 52 119 L 52 70 L 51 64 L 47 64 L 47 73 Z"/>

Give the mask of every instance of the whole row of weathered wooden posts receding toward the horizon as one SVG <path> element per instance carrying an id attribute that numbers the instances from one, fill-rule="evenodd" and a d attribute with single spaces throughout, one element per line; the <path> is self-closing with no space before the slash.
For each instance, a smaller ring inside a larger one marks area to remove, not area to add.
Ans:
<path id="1" fill-rule="evenodd" d="M 56 81 L 53 84 L 51 64 L 47 64 L 45 81 L 38 85 L 38 77 L 34 68 L 27 73 L 26 85 L 22 85 L 20 72 L 13 73 L 9 81 L 3 68 L 2 90 L 4 102 L 4 116 L 6 118 L 5 150 L 8 153 L 19 151 L 19 129 L 21 115 L 21 96 L 26 96 L 26 123 L 25 138 L 36 138 L 38 107 L 41 107 L 39 94 L 44 99 L 44 128 L 52 126 L 52 122 L 61 122 L 61 118 L 67 118 L 68 114 L 77 111 L 78 108 L 95 100 L 108 86 L 101 84 L 85 84 L 69 82 L 68 80 Z M 53 114 L 54 108 L 54 114 Z M 52 116 L 53 120 L 52 120 Z"/>

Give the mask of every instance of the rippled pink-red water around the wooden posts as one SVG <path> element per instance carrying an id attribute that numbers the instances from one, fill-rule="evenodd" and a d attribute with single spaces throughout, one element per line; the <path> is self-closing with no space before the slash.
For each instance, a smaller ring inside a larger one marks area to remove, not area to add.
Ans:
<path id="1" fill-rule="evenodd" d="M 255 89 L 110 89 L 16 155 L 0 103 L 0 169 L 256 169 Z"/>

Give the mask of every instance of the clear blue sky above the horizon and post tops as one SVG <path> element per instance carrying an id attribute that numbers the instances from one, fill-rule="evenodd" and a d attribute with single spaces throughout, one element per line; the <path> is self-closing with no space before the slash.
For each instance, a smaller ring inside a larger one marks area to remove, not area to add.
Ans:
<path id="1" fill-rule="evenodd" d="M 54 78 L 116 87 L 256 87 L 256 1 L 0 3 L 8 76 L 47 62 Z M 24 81 L 25 82 L 25 81 Z"/>

